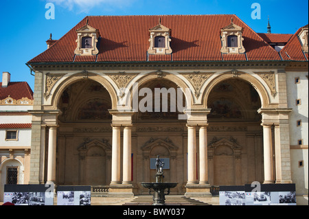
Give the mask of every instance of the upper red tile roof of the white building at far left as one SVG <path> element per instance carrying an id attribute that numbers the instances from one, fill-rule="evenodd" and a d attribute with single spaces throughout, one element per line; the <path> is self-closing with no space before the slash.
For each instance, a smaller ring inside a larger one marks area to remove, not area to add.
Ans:
<path id="1" fill-rule="evenodd" d="M 21 100 L 23 97 L 34 100 L 33 91 L 27 82 L 10 82 L 8 87 L 2 87 L 2 82 L 0 82 L 0 100 L 7 98 L 9 95 L 14 100 Z"/>

